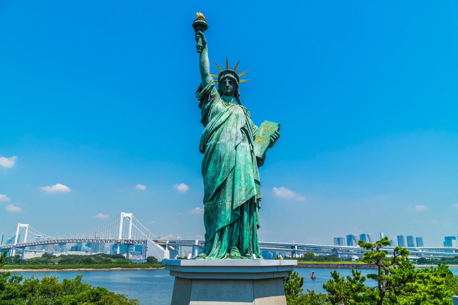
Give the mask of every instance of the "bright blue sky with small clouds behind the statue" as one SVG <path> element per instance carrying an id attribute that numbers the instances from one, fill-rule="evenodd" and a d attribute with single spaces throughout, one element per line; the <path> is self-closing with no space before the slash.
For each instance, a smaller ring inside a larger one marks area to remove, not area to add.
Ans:
<path id="1" fill-rule="evenodd" d="M 253 121 L 282 125 L 260 239 L 458 235 L 452 1 L 1 2 L 0 230 L 77 234 L 123 211 L 204 233 L 196 11 L 211 62 L 250 69 Z"/>

